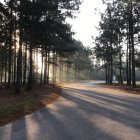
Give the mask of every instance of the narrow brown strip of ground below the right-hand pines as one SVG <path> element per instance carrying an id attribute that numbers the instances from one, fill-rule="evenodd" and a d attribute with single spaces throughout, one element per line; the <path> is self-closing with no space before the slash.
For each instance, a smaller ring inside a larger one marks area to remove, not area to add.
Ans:
<path id="1" fill-rule="evenodd" d="M 140 95 L 140 85 L 139 84 L 136 86 L 136 88 L 133 88 L 132 86 L 128 86 L 127 84 L 118 84 L 118 83 L 113 83 L 112 85 L 105 84 L 105 83 L 98 83 L 98 85 L 102 85 L 103 87 L 107 87 L 107 88 L 111 88 L 111 89 L 126 91 L 127 93 Z"/>

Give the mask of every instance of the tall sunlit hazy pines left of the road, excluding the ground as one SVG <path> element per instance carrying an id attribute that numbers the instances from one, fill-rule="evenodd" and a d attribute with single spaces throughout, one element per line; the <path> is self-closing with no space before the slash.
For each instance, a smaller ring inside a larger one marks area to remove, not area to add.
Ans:
<path id="1" fill-rule="evenodd" d="M 0 82 L 20 93 L 33 84 L 78 80 L 92 70 L 91 52 L 73 38 L 66 18 L 80 0 L 6 0 L 0 3 Z M 73 77 L 71 76 L 73 74 Z M 71 77 L 71 78 L 70 78 Z"/>

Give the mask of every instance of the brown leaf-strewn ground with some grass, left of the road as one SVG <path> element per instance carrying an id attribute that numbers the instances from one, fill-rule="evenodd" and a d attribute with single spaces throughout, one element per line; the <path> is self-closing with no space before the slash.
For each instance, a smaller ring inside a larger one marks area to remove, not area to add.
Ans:
<path id="1" fill-rule="evenodd" d="M 20 94 L 14 94 L 14 89 L 7 90 L 0 85 L 0 126 L 55 102 L 59 93 L 58 87 L 36 85 L 30 92 L 22 89 Z"/>

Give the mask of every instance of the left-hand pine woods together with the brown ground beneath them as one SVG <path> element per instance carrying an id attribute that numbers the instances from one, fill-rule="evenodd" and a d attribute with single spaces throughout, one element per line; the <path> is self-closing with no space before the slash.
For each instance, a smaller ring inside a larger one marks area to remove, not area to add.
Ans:
<path id="1" fill-rule="evenodd" d="M 90 77 L 91 50 L 66 18 L 80 0 L 0 2 L 0 126 L 58 98 L 58 82 Z"/>

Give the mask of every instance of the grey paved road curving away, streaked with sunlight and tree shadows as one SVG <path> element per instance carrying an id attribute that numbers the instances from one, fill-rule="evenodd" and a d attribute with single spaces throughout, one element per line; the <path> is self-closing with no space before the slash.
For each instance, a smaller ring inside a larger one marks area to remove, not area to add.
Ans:
<path id="1" fill-rule="evenodd" d="M 93 83 L 63 85 L 48 107 L 0 127 L 0 140 L 140 140 L 140 96 Z"/>

